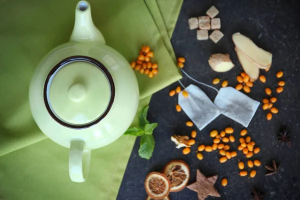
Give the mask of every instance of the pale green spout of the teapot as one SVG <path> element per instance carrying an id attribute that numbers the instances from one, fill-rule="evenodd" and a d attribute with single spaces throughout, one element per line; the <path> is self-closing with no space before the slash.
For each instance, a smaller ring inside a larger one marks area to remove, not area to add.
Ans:
<path id="1" fill-rule="evenodd" d="M 76 5 L 75 24 L 70 37 L 70 41 L 97 41 L 105 44 L 102 33 L 92 22 L 90 5 L 85 0 L 80 0 Z"/>

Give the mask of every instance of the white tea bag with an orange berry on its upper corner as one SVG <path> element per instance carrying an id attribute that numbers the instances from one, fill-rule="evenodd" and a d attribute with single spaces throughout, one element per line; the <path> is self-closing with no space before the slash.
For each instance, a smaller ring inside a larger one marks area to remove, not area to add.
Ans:
<path id="1" fill-rule="evenodd" d="M 199 130 L 220 115 L 220 110 L 199 87 L 190 84 L 184 90 L 188 96 L 184 97 L 181 91 L 178 104 Z"/>

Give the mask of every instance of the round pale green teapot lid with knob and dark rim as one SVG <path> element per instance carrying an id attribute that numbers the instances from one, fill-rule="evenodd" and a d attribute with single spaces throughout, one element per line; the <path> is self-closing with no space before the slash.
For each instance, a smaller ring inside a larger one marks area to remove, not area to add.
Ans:
<path id="1" fill-rule="evenodd" d="M 58 123 L 86 128 L 108 113 L 114 100 L 114 83 L 107 68 L 88 56 L 70 56 L 48 73 L 43 99 Z"/>

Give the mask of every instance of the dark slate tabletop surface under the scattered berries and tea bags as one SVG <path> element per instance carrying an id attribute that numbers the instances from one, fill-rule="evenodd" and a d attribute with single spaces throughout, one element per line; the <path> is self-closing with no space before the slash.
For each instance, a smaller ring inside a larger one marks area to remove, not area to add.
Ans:
<path id="1" fill-rule="evenodd" d="M 206 199 L 251 199 L 253 186 L 266 193 L 264 199 L 300 199 L 300 137 L 297 132 L 300 121 L 299 3 L 298 0 L 185 0 L 171 38 L 176 56 L 183 56 L 187 60 L 184 70 L 208 84 L 215 77 L 228 80 L 230 86 L 237 84 L 235 77 L 242 69 L 234 52 L 232 33 L 241 32 L 258 46 L 272 52 L 273 62 L 270 71 L 261 70 L 261 74 L 266 76 L 266 83 L 256 81 L 249 96 L 261 101 L 266 97 L 264 88 L 270 87 L 274 96 L 278 98 L 275 106 L 279 109 L 279 113 L 274 115 L 271 121 L 267 121 L 265 118 L 267 112 L 262 110 L 260 105 L 247 130 L 261 148 L 260 153 L 253 158 L 258 158 L 262 164 L 270 163 L 272 159 L 277 160 L 281 163 L 279 172 L 264 176 L 265 169 L 258 167 L 254 178 L 239 177 L 237 160 L 246 160 L 241 152 L 225 163 L 218 162 L 220 155 L 217 151 L 204 152 L 204 159 L 197 160 L 194 150 L 200 143 L 211 144 L 209 131 L 213 128 L 221 130 L 228 125 L 234 127 L 236 141 L 230 146 L 231 149 L 237 150 L 238 134 L 242 126 L 223 115 L 218 116 L 202 131 L 197 130 L 196 144 L 192 146 L 192 152 L 182 155 L 181 149 L 175 148 L 170 136 L 190 135 L 190 131 L 195 127 L 185 126 L 184 122 L 188 117 L 183 111 L 176 112 L 177 98 L 168 96 L 168 91 L 179 85 L 176 82 L 152 96 L 148 118 L 151 122 L 159 124 L 153 133 L 155 138 L 153 155 L 149 160 L 140 158 L 137 152 L 139 139 L 136 140 L 117 199 L 145 199 L 147 195 L 143 182 L 147 173 L 160 171 L 171 159 L 183 159 L 190 165 L 189 182 L 195 180 L 196 169 L 200 169 L 206 176 L 218 174 L 215 187 L 221 197 Z M 221 31 L 224 33 L 224 37 L 217 44 L 211 40 L 197 41 L 196 30 L 189 30 L 187 26 L 189 17 L 204 15 L 211 5 L 215 5 L 220 11 L 218 17 L 221 19 Z M 229 53 L 235 67 L 225 73 L 211 70 L 207 59 L 211 53 L 216 52 Z M 284 71 L 284 76 L 280 79 L 286 82 L 284 91 L 280 94 L 274 92 L 278 81 L 275 74 L 278 70 Z M 192 83 L 186 77 L 183 77 L 182 82 L 186 86 Z M 215 91 L 203 86 L 200 88 L 211 99 L 215 97 Z M 291 147 L 280 144 L 276 139 L 276 132 L 282 124 L 286 124 L 290 130 Z M 226 187 L 220 185 L 223 177 L 228 179 Z M 170 193 L 170 198 L 197 199 L 197 196 L 194 191 L 184 188 L 182 191 Z"/>

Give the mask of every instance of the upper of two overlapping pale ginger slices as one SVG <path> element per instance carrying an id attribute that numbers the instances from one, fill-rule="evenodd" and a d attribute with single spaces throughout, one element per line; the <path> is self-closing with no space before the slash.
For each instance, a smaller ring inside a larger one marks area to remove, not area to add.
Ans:
<path id="1" fill-rule="evenodd" d="M 244 52 L 251 61 L 258 63 L 256 64 L 259 68 L 269 68 L 272 63 L 272 54 L 262 48 L 259 48 L 251 39 L 245 35 L 236 32 L 232 35 L 232 40 L 235 46 Z"/>

